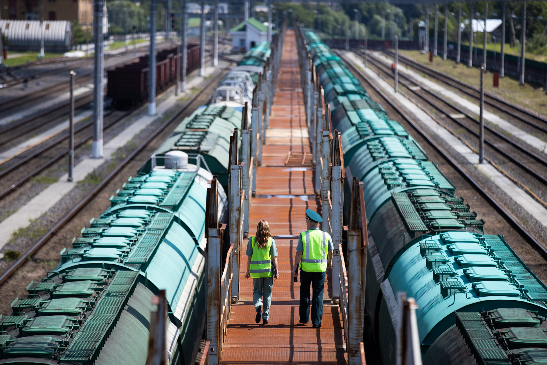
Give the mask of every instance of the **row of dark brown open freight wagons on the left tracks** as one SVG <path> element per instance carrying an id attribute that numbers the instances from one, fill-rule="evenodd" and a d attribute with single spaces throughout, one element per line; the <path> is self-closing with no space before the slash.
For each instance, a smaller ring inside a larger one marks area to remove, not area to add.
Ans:
<path id="1" fill-rule="evenodd" d="M 200 66 L 200 46 L 188 45 L 187 73 Z M 156 92 L 161 92 L 176 80 L 177 48 L 166 49 L 156 54 Z M 137 62 L 108 71 L 107 96 L 117 108 L 137 106 L 148 100 L 148 55 Z M 182 72 L 182 70 L 181 70 Z"/>

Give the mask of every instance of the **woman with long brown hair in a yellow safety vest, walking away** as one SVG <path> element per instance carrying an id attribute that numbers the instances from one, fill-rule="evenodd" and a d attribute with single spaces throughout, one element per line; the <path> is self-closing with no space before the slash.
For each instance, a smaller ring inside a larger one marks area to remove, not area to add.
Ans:
<path id="1" fill-rule="evenodd" d="M 247 279 L 253 278 L 253 302 L 257 310 L 255 322 L 268 324 L 270 317 L 270 303 L 272 300 L 272 286 L 274 277 L 279 277 L 277 271 L 277 248 L 275 240 L 270 234 L 270 226 L 266 221 L 260 221 L 257 225 L 257 234 L 249 238 L 247 244 Z M 262 307 L 264 306 L 264 313 Z"/>

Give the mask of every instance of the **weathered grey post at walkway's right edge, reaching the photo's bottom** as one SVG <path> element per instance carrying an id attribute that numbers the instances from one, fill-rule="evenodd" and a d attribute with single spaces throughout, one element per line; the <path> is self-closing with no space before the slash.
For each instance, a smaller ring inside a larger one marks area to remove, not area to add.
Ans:
<path id="1" fill-rule="evenodd" d="M 359 343 L 361 333 L 361 231 L 350 230 L 347 234 L 347 317 L 348 341 L 347 355 L 350 364 L 360 364 Z"/>

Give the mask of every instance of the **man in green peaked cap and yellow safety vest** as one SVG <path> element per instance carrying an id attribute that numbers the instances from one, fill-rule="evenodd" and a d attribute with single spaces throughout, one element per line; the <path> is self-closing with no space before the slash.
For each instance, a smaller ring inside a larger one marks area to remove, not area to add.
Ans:
<path id="1" fill-rule="evenodd" d="M 321 327 L 323 317 L 323 289 L 325 271 L 333 262 L 333 239 L 327 232 L 319 230 L 323 218 L 317 212 L 306 209 L 307 231 L 298 237 L 296 256 L 294 258 L 294 277 L 298 276 L 300 265 L 300 323 L 309 323 L 310 318 L 310 285 L 313 298 L 311 302 L 312 328 Z"/>

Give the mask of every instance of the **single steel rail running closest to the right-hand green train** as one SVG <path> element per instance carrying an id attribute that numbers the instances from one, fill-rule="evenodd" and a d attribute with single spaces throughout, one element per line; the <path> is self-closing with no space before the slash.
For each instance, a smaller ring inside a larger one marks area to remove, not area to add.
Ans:
<path id="1" fill-rule="evenodd" d="M 532 237 L 524 228 L 522 228 L 522 226 L 515 221 L 515 218 L 513 218 L 513 216 L 511 216 L 507 211 L 505 211 L 505 209 L 498 204 L 498 202 L 496 200 L 494 200 L 494 198 L 492 198 L 492 196 L 490 194 L 488 194 L 486 192 L 485 189 L 483 189 L 467 172 L 465 172 L 462 167 L 460 167 L 455 160 L 453 160 L 448 154 L 446 154 L 444 152 L 444 150 L 442 150 L 437 143 L 435 143 L 427 134 L 426 132 L 422 131 L 415 123 L 414 121 L 412 121 L 408 115 L 406 115 L 404 112 L 402 112 L 400 110 L 399 107 L 395 106 L 395 104 L 387 97 L 387 95 L 385 95 L 382 91 L 380 91 L 380 89 L 378 89 L 376 87 L 376 85 L 374 85 L 369 79 L 368 77 L 364 76 L 364 74 L 362 72 L 360 72 L 355 66 L 352 65 L 352 63 L 350 63 L 346 57 L 342 56 L 339 52 L 336 52 L 340 58 L 342 60 L 345 61 L 346 65 L 348 65 L 349 67 L 351 67 L 353 69 L 353 71 L 355 73 L 357 73 L 362 79 L 364 79 L 387 103 L 389 103 L 389 105 L 391 105 L 393 107 L 393 109 L 395 109 L 395 111 L 397 111 L 411 126 L 412 128 L 414 128 L 418 134 L 420 134 L 424 140 L 426 140 L 429 144 L 431 144 L 431 146 L 433 146 L 433 148 L 435 150 L 437 150 L 437 152 L 443 156 L 443 158 L 448 161 L 450 163 L 450 165 L 452 165 L 452 167 L 454 167 L 454 169 L 456 169 L 460 175 L 462 175 L 476 190 L 478 190 L 478 192 L 491 204 L 494 206 L 494 208 L 496 208 L 496 210 L 498 211 L 498 213 L 506 220 L 508 221 L 509 224 L 513 225 L 513 227 L 515 228 L 515 230 L 526 240 L 528 241 L 529 244 L 531 244 L 531 246 L 536 250 L 538 251 L 543 258 L 547 259 L 547 250 L 539 244 L 539 242 L 534 239 L 534 237 Z"/>

